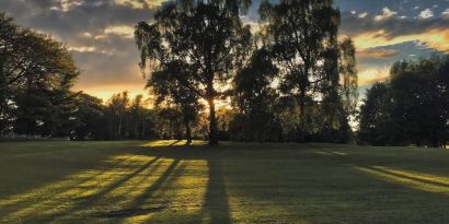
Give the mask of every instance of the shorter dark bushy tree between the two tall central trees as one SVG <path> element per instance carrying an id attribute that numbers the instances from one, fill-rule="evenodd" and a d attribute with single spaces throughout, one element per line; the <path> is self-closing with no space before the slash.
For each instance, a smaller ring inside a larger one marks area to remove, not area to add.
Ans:
<path id="1" fill-rule="evenodd" d="M 265 48 L 254 51 L 249 64 L 234 78 L 234 102 L 239 108 L 230 122 L 230 135 L 239 141 L 279 141 L 279 122 L 274 115 L 278 97 L 272 83 L 278 69 Z"/>

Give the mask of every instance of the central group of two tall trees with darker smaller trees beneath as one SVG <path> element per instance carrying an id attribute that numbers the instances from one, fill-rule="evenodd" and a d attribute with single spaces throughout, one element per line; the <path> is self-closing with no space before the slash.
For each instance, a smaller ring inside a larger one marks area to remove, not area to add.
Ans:
<path id="1" fill-rule="evenodd" d="M 241 17 L 250 0 L 180 0 L 136 26 L 140 66 L 158 104 L 183 116 L 186 135 L 202 102 L 217 144 L 216 102 L 232 106 L 229 137 L 244 141 L 347 142 L 357 102 L 355 48 L 338 42 L 331 0 L 263 1 L 260 32 Z"/>

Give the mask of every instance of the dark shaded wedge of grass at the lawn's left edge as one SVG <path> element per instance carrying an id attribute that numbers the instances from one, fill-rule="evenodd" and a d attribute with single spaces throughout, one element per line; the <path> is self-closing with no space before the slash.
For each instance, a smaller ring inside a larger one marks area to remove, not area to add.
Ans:
<path id="1" fill-rule="evenodd" d="M 2 144 L 5 143 L 0 143 L 0 148 Z M 134 151 L 138 145 L 138 143 L 129 143 L 115 146 L 67 141 L 7 144 L 14 150 L 3 152 L 0 157 L 0 163 L 4 163 L 4 167 L 9 169 L 9 173 L 0 176 L 0 182 L 4 187 L 4 191 L 3 189 L 0 191 L 0 203 L 11 196 L 36 191 L 45 188 L 48 184 L 64 180 L 80 172 L 96 169 L 97 165 L 101 165 L 107 157 Z M 99 153 L 100 151 L 102 153 Z M 54 169 L 49 174 L 43 175 L 49 165 L 54 165 Z M 19 176 L 19 178 L 10 178 L 9 176 L 14 177 L 14 175 L 22 173 L 24 175 Z M 25 178 L 30 178 L 30 181 L 23 182 L 22 180 Z"/>

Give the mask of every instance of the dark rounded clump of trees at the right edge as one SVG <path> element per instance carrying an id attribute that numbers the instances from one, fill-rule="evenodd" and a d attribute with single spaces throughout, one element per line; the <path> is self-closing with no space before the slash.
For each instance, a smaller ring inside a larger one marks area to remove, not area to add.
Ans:
<path id="1" fill-rule="evenodd" d="M 449 140 L 449 56 L 400 61 L 375 84 L 360 108 L 360 143 L 446 146 Z"/>

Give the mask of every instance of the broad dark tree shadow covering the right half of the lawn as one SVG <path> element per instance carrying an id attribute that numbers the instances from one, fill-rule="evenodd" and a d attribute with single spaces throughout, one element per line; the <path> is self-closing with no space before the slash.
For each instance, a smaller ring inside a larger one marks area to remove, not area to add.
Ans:
<path id="1" fill-rule="evenodd" d="M 241 208 L 233 209 L 237 219 L 250 223 L 418 223 L 423 219 L 447 223 L 449 220 L 448 215 L 440 214 L 441 209 L 431 209 L 430 205 L 435 202 L 439 208 L 447 208 L 447 193 L 387 184 L 384 179 L 360 173 L 352 166 L 391 163 L 405 167 L 417 158 L 410 157 L 398 164 L 398 157 L 388 153 L 353 154 L 345 149 L 341 149 L 342 152 L 339 149 L 321 149 L 322 155 L 316 154 L 316 149 L 299 144 L 250 145 L 261 146 L 258 151 L 245 150 L 245 146 L 240 145 L 241 150 L 158 146 L 142 153 L 207 161 L 209 181 L 200 215 L 210 217 L 211 223 L 231 223 L 229 193 L 244 197 L 244 204 L 237 203 Z M 281 149 L 277 150 L 278 146 Z M 226 164 L 223 160 L 227 160 Z M 225 180 L 234 187 L 227 189 Z M 408 200 L 426 204 L 426 212 L 436 215 L 419 213 L 418 205 L 411 204 Z"/>

